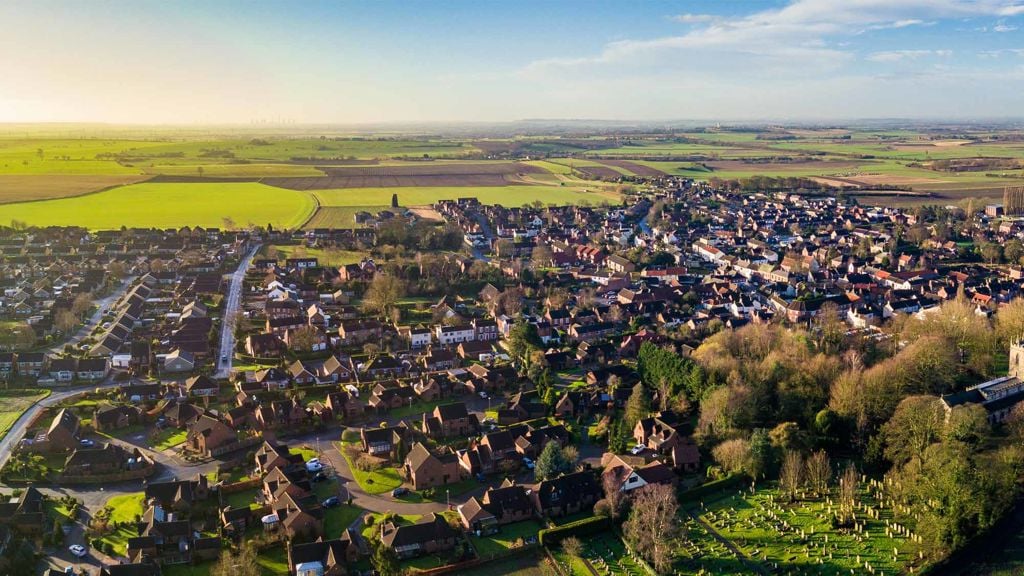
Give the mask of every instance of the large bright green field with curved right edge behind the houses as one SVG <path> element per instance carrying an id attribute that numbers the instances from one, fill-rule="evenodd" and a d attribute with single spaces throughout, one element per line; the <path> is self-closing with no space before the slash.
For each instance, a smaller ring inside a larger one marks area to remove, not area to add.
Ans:
<path id="1" fill-rule="evenodd" d="M 314 208 L 308 194 L 256 182 L 138 183 L 75 198 L 8 204 L 3 218 L 40 227 L 114 230 L 224 228 L 229 217 L 236 227 L 270 222 L 282 229 L 301 225 Z"/>

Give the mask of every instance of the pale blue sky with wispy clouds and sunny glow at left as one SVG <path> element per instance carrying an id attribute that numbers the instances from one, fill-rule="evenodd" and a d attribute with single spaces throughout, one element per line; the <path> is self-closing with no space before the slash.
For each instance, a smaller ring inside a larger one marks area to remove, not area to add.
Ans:
<path id="1" fill-rule="evenodd" d="M 1024 116 L 1024 0 L 4 0 L 0 54 L 0 122 Z"/>

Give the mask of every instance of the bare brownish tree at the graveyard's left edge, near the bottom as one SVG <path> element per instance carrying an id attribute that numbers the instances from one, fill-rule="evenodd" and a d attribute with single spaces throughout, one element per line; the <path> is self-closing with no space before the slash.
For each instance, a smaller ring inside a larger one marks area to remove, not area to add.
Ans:
<path id="1" fill-rule="evenodd" d="M 648 485 L 636 491 L 629 520 L 623 525 L 623 535 L 633 549 L 663 574 L 672 567 L 678 513 L 674 487 Z"/>

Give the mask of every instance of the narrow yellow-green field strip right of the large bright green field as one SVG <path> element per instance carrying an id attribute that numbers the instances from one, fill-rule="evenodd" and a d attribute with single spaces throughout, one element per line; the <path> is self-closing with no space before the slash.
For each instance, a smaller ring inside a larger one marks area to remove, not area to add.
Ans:
<path id="1" fill-rule="evenodd" d="M 618 196 L 593 186 L 503 186 L 503 187 L 417 187 L 317 190 L 322 206 L 387 206 L 398 195 L 402 206 L 422 206 L 439 200 L 475 197 L 482 204 L 522 206 L 535 201 L 545 204 L 617 202 Z"/>

